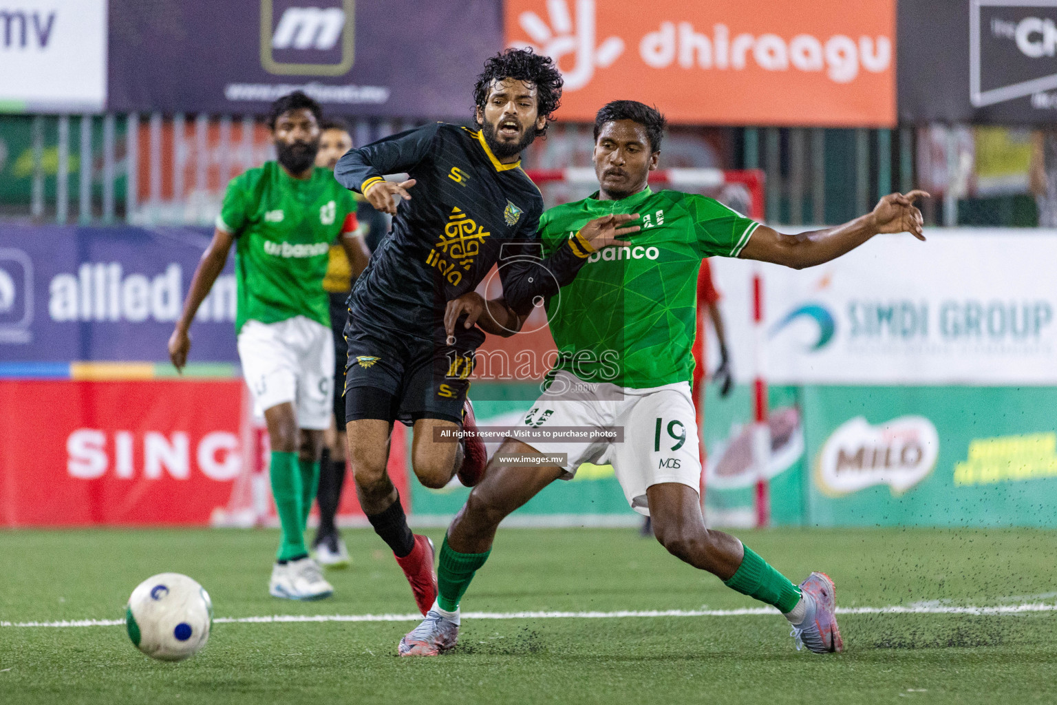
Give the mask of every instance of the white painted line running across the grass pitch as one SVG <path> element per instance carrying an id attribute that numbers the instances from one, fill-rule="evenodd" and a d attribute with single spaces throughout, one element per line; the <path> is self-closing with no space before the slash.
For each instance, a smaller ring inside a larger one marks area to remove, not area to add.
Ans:
<path id="1" fill-rule="evenodd" d="M 997 607 L 952 607 L 943 605 L 890 605 L 888 607 L 838 607 L 837 614 L 971 614 L 1003 615 L 1026 612 L 1057 612 L 1057 605 L 1027 602 Z M 618 610 L 616 612 L 463 612 L 467 619 L 615 619 L 620 617 L 741 617 L 775 615 L 772 607 L 739 610 Z M 419 621 L 414 614 L 273 614 L 259 617 L 217 617 L 214 624 L 276 624 L 297 621 Z M 63 619 L 61 621 L 2 621 L 0 627 L 116 627 L 124 619 Z"/>

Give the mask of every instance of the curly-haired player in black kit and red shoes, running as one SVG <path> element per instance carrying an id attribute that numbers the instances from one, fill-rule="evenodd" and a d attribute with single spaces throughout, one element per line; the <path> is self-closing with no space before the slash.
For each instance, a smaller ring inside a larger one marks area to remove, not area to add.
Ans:
<path id="1" fill-rule="evenodd" d="M 484 445 L 434 438 L 475 428 L 467 377 L 484 332 L 515 333 L 497 321 L 523 321 L 591 253 L 627 245 L 618 238 L 638 230 L 627 225 L 637 216 L 607 216 L 541 258 L 536 230 L 543 200 L 521 170 L 520 154 L 546 132 L 561 82 L 549 57 L 507 50 L 485 62 L 475 86 L 480 129 L 439 123 L 409 130 L 350 150 L 334 170 L 342 185 L 394 216 L 390 236 L 349 296 L 346 428 L 360 506 L 392 549 L 423 614 L 437 596 L 433 546 L 411 533 L 386 471 L 392 424 L 413 425 L 411 465 L 424 485 L 443 487 L 457 471 L 464 484 L 476 484 L 487 462 Z M 385 180 L 404 172 L 409 178 L 402 183 Z M 447 302 L 472 292 L 493 265 L 503 298 L 486 305 L 504 310 L 481 316 L 478 328 L 458 326 L 448 338 Z"/>

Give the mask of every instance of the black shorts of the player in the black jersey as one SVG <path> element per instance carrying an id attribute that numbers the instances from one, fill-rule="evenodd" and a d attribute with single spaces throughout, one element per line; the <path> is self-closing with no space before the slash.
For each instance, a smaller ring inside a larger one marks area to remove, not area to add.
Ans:
<path id="1" fill-rule="evenodd" d="M 345 421 L 419 419 L 462 423 L 474 348 L 447 346 L 398 331 L 349 326 Z M 381 392 L 381 393 L 379 393 Z"/>

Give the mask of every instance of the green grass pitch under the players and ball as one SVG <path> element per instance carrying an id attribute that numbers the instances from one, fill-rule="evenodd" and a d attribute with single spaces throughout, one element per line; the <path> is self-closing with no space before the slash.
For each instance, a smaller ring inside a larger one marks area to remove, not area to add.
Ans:
<path id="1" fill-rule="evenodd" d="M 427 532 L 439 544 L 440 530 Z M 0 532 L 0 621 L 118 619 L 141 580 L 186 573 L 218 617 L 406 614 L 381 540 L 345 532 L 333 598 L 266 591 L 274 531 Z M 742 538 L 795 580 L 823 570 L 846 608 L 1057 602 L 1057 533 L 772 530 Z M 756 607 L 631 528 L 501 530 L 464 611 Z M 847 651 L 797 652 L 773 615 L 465 619 L 460 646 L 400 658 L 413 621 L 217 624 L 180 664 L 124 627 L 0 627 L 0 703 L 1046 703 L 1057 612 L 845 614 Z"/>

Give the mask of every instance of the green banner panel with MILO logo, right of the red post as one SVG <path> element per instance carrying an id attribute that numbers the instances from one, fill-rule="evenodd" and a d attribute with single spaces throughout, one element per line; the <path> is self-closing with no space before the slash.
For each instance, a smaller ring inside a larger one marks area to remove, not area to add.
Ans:
<path id="1" fill-rule="evenodd" d="M 1057 525 L 1057 389 L 804 387 L 819 525 Z"/>

